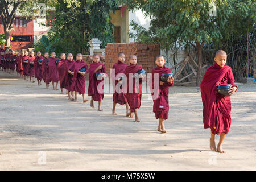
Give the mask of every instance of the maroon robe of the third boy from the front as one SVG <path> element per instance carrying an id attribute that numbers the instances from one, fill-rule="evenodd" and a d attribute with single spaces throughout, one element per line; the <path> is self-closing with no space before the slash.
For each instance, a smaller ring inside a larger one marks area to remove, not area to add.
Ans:
<path id="1" fill-rule="evenodd" d="M 129 66 L 126 67 L 125 69 L 125 75 L 126 75 L 126 80 L 127 80 L 127 101 L 130 106 L 131 112 L 134 112 L 135 109 L 139 109 L 141 107 L 141 98 L 142 98 L 142 79 L 139 79 L 139 88 L 135 86 L 135 78 L 133 78 L 133 88 L 132 93 L 129 93 L 129 87 L 131 87 L 131 84 L 129 85 L 129 73 L 136 73 L 139 71 L 139 69 L 143 69 L 142 65 L 133 65 L 130 64 Z"/>

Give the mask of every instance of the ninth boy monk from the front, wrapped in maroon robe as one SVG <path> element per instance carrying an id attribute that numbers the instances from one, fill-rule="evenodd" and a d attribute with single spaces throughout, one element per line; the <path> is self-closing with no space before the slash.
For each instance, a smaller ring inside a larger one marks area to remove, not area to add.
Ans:
<path id="1" fill-rule="evenodd" d="M 58 69 L 57 69 L 57 64 L 56 64 L 56 53 L 52 52 L 51 53 L 51 58 L 49 59 L 49 76 L 52 82 L 52 89 L 53 90 L 59 90 L 57 89 L 58 83 L 59 83 L 59 73 L 58 73 Z M 55 83 L 55 86 L 54 86 Z"/>

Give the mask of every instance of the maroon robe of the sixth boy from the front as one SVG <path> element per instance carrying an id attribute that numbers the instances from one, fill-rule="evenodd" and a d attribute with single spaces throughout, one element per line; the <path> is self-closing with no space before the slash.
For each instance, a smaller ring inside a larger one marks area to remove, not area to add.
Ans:
<path id="1" fill-rule="evenodd" d="M 72 88 L 80 95 L 85 93 L 85 76 L 78 73 L 81 68 L 85 68 L 85 73 L 89 72 L 88 65 L 84 61 L 76 60 L 72 68 L 74 71 Z"/>

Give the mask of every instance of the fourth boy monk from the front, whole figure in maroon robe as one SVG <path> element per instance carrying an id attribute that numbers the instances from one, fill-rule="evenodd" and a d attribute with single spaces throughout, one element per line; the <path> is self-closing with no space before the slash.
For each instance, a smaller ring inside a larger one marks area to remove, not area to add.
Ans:
<path id="1" fill-rule="evenodd" d="M 112 109 L 112 114 L 117 115 L 115 112 L 115 107 L 117 104 L 124 105 L 126 106 L 126 116 L 130 115 L 130 110 L 129 110 L 129 105 L 128 101 L 126 98 L 126 92 L 123 92 L 123 87 L 118 86 L 118 82 L 122 83 L 122 80 L 120 80 L 121 76 L 125 76 L 125 69 L 127 67 L 127 64 L 125 63 L 125 54 L 120 52 L 118 53 L 118 61 L 113 65 L 113 71 L 115 73 L 113 79 L 113 87 L 114 87 L 114 93 L 113 93 L 113 109 Z M 118 78 L 117 78 L 118 76 Z"/>

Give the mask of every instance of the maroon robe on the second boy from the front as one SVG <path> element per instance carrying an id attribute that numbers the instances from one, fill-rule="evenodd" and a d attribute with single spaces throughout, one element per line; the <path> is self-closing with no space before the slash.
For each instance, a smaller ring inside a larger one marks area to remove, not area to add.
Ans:
<path id="1" fill-rule="evenodd" d="M 152 84 L 152 89 L 151 89 L 151 94 L 152 96 L 154 95 L 154 90 L 155 89 L 155 78 L 154 78 L 154 74 L 158 75 L 158 90 L 156 92 L 158 92 L 158 98 L 156 98 L 154 100 L 153 98 L 153 112 L 155 113 L 155 118 L 156 119 L 168 119 L 168 115 L 169 115 L 169 86 L 172 86 L 172 84 L 170 84 L 169 82 L 164 83 L 163 85 L 160 85 L 160 81 L 161 81 L 161 75 L 164 73 L 171 73 L 171 70 L 169 68 L 166 68 L 166 66 L 164 65 L 163 68 L 161 67 L 156 67 L 154 69 L 152 69 L 152 75 L 150 79 L 150 84 Z"/>

